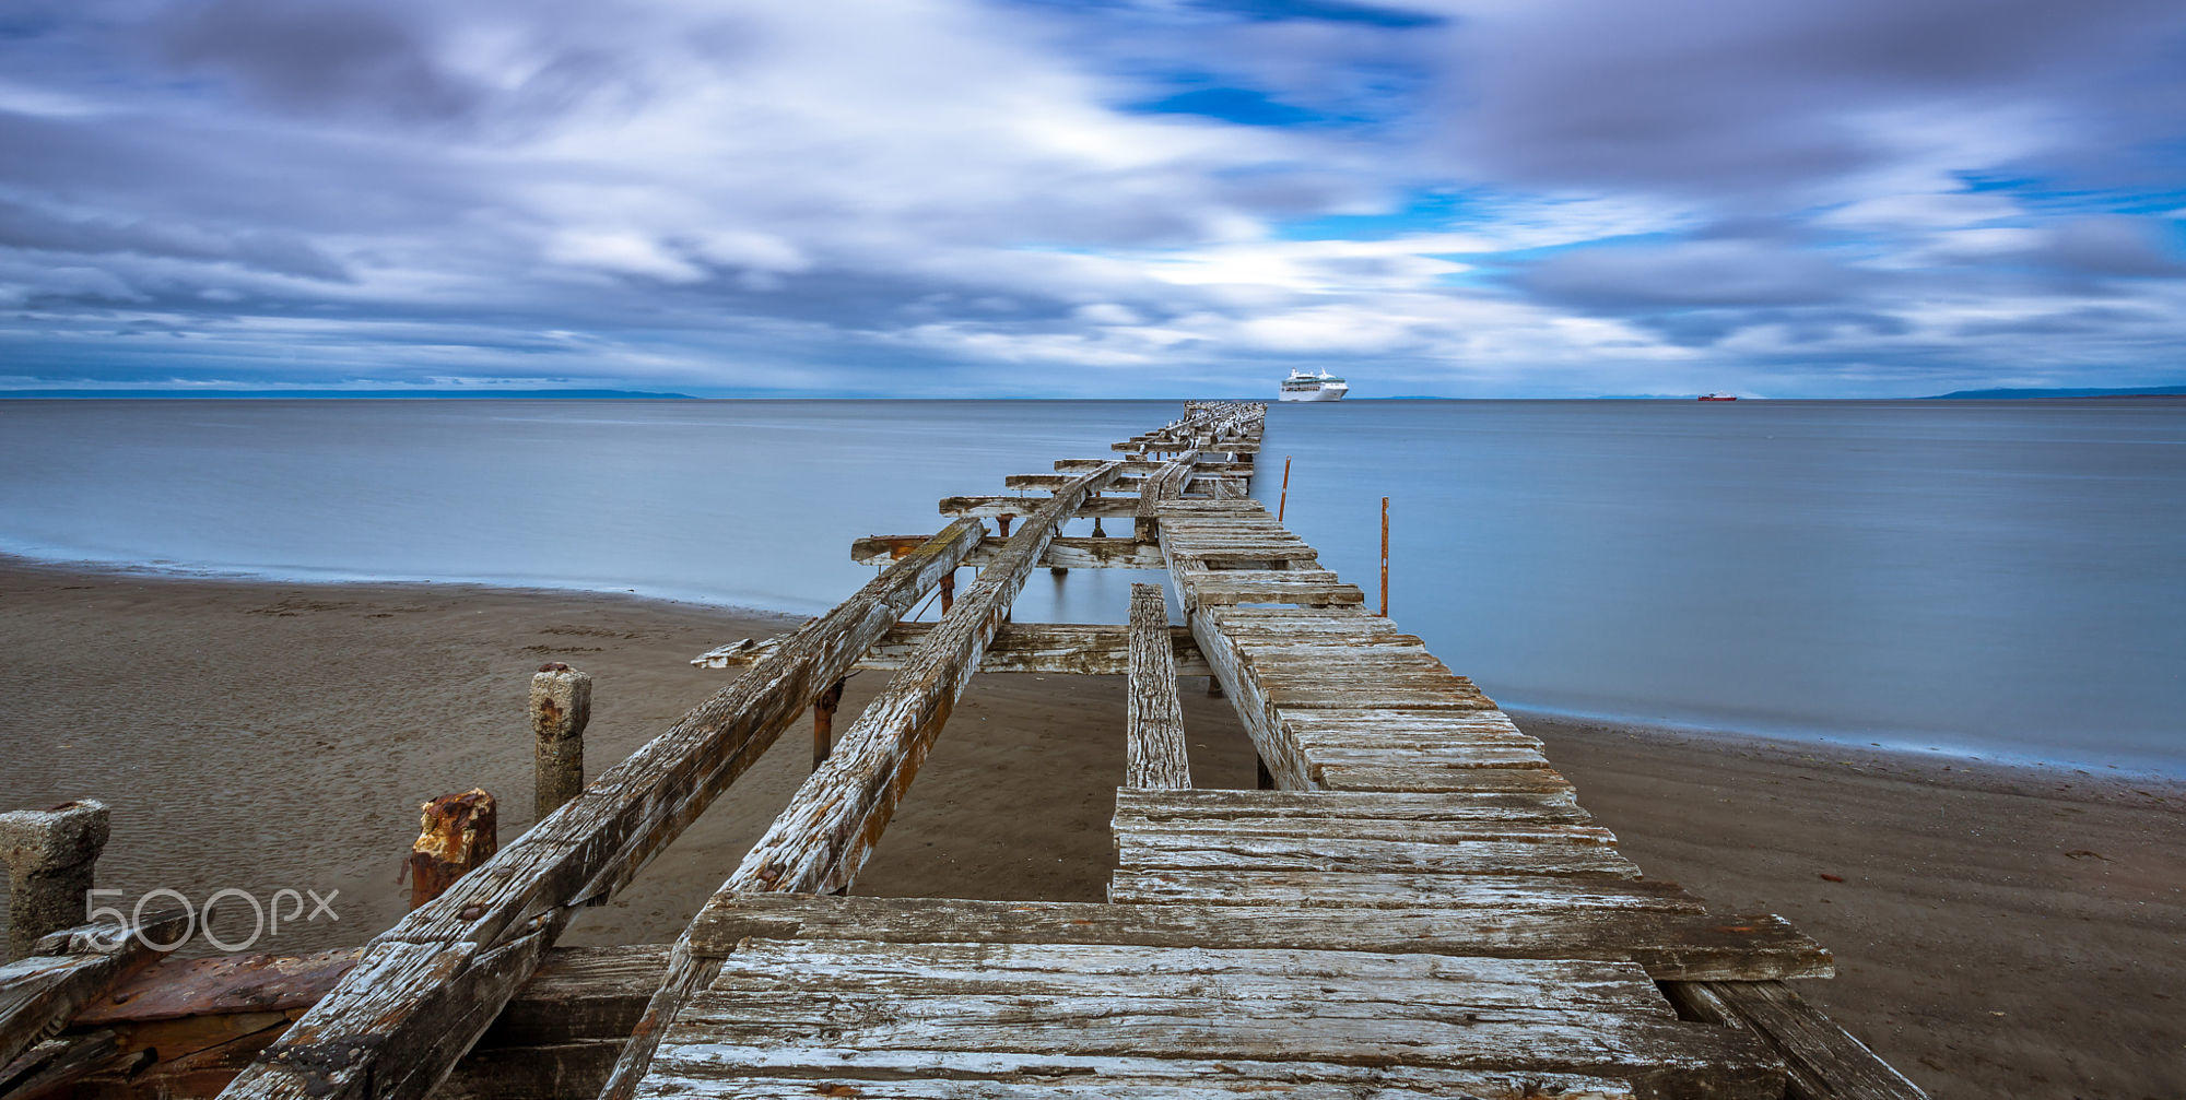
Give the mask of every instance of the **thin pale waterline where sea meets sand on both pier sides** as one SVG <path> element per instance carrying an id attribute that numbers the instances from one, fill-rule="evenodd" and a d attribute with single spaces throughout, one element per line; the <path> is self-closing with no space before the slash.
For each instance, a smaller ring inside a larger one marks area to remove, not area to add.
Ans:
<path id="1" fill-rule="evenodd" d="M 640 605 L 662 605 L 675 609 L 697 609 L 715 611 L 739 620 L 785 620 L 787 626 L 796 626 L 804 618 L 824 613 L 833 605 L 809 605 L 809 607 L 767 607 L 763 602 L 728 602 L 706 596 L 671 594 L 671 591 L 645 591 L 645 589 L 614 589 L 614 587 L 586 587 L 586 585 L 540 585 L 525 581 L 496 581 L 496 578 L 369 578 L 352 574 L 313 574 L 308 570 L 295 574 L 278 572 L 254 572 L 254 570 L 225 570 L 225 567 L 195 567 L 195 565 L 162 565 L 162 563 L 120 563 L 101 559 L 48 559 L 37 554 L 22 554 L 15 550 L 0 550 L 0 572 L 52 572 L 57 576 L 74 578 L 146 578 L 146 581 L 177 581 L 177 583 L 205 583 L 205 585 L 258 585 L 258 587 L 361 587 L 361 589 L 420 589 L 420 591 L 466 591 L 477 589 L 481 594 L 509 594 L 509 596 L 542 596 L 542 598 L 601 598 L 601 600 L 630 600 Z M 1465 674 L 1462 670 L 1456 670 Z M 1489 692 L 1495 696 L 1495 692 Z M 1500 696 L 1497 696 L 1500 698 Z M 2103 775 L 2112 773 L 2120 781 L 2155 784 L 2166 788 L 2177 788 L 2186 792 L 2186 770 L 2169 773 L 2160 766 L 2127 766 L 2127 764 L 2099 764 L 2085 760 L 2061 760 L 2061 757 L 2033 757 L 2002 751 L 1987 751 L 1987 755 L 1972 749 L 1913 749 L 1919 740 L 1897 733 L 1884 733 L 1887 742 L 1878 744 L 1854 733 L 1827 733 L 1827 731 L 1753 731 L 1720 727 L 1707 722 L 1670 722 L 1620 714 L 1600 714 L 1583 709 L 1563 707 L 1537 707 L 1526 703 L 1506 703 L 1504 709 L 1513 716 L 1526 714 L 1535 720 L 1561 722 L 1561 725 L 1598 725 L 1598 727 L 1620 727 L 1646 731 L 1661 738 L 1714 738 L 1727 742 L 1742 742 L 1753 746 L 1784 746 L 1784 749 L 1812 749 L 1832 753 L 1873 753 L 1904 757 L 1906 762 L 1917 762 L 1917 766 L 1932 766 L 1935 762 L 1950 762 L 1959 770 L 1983 770 L 1996 768 L 2005 773 L 2075 773 L 2075 775 Z M 1948 740 L 1948 738 L 1943 738 Z M 1948 768 L 1946 768 L 1948 770 Z"/>

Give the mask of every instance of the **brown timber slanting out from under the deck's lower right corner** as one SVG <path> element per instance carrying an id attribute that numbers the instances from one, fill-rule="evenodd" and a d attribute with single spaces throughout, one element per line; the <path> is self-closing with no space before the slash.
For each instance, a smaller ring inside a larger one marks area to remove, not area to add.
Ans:
<path id="1" fill-rule="evenodd" d="M 1688 1019 L 1758 1035 L 1790 1069 L 1788 1100 L 1928 1100 L 1784 982 L 1664 982 Z"/>

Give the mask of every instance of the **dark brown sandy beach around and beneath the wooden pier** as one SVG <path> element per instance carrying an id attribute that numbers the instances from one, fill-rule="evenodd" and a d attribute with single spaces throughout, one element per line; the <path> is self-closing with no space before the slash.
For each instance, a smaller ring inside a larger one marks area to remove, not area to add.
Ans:
<path id="1" fill-rule="evenodd" d="M 483 786 L 529 825 L 522 696 L 597 681 L 588 773 L 730 672 L 689 659 L 796 620 L 444 585 L 278 585 L 0 561 L 0 805 L 114 805 L 101 886 L 341 890 L 367 938 L 407 899 L 415 803 Z M 1462 672 L 1462 668 L 1458 670 Z M 850 681 L 853 714 L 879 674 Z M 1253 786 L 1229 703 L 1187 681 L 1198 786 Z M 1493 685 L 1489 685 L 1493 692 Z M 1939 1098 L 2186 1093 L 2186 788 L 2118 773 L 1517 714 L 1650 877 L 1782 912 L 1838 958 L 1806 993 Z M 979 677 L 857 893 L 1100 899 L 1124 766 L 1113 679 Z M 809 768 L 802 727 L 564 943 L 667 941 Z"/>

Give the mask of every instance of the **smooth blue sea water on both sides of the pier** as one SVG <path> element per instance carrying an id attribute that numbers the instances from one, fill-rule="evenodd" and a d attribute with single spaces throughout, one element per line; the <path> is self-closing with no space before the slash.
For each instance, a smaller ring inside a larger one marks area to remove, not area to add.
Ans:
<path id="1" fill-rule="evenodd" d="M 0 550 L 815 613 L 872 576 L 850 539 L 1176 412 L 0 402 Z M 1390 498 L 1390 615 L 1504 705 L 2186 775 L 2186 402 L 1272 406 L 1270 506 L 1285 456 L 1368 600 Z M 1016 618 L 1121 622 L 1143 578 L 1036 572 Z"/>

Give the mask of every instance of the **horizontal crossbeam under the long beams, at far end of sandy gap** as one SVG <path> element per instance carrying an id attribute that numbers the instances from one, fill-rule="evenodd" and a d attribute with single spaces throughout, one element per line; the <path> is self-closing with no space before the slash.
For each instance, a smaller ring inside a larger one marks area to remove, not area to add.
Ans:
<path id="1" fill-rule="evenodd" d="M 931 622 L 898 622 L 890 626 L 863 657 L 859 672 L 894 672 L 933 633 Z M 767 653 L 778 639 L 730 642 L 691 659 L 700 668 L 743 668 Z M 1198 642 L 1185 626 L 1170 626 L 1170 653 L 1178 677 L 1207 677 L 1211 668 L 1200 657 Z M 1071 677 L 1121 677 L 1130 670 L 1130 626 L 1104 622 L 1003 622 L 979 657 L 979 672 L 1041 672 Z"/>

